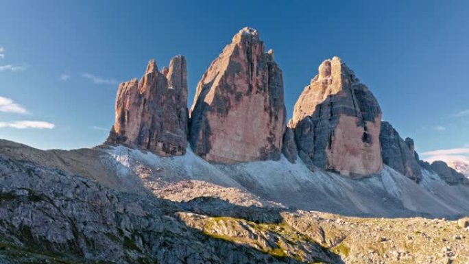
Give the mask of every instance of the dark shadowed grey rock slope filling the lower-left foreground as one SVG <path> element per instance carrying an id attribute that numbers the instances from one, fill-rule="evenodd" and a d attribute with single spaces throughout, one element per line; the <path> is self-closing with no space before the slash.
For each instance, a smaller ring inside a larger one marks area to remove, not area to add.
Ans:
<path id="1" fill-rule="evenodd" d="M 255 241 L 238 245 L 206 235 L 178 213 L 229 208 L 226 202 L 211 204 L 200 208 L 197 202 L 112 191 L 64 171 L 0 156 L 0 263 L 300 263 L 289 254 L 259 250 Z M 226 212 L 268 217 L 260 210 Z M 341 263 L 327 250 L 315 255 L 320 246 L 308 243 L 311 250 L 303 251 L 304 257 Z"/>

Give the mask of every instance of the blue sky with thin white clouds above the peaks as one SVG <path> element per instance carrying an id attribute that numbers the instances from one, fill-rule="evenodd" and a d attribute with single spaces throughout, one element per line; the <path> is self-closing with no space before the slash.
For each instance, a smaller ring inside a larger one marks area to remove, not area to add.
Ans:
<path id="1" fill-rule="evenodd" d="M 468 156 L 468 10 L 458 0 L 0 0 L 0 139 L 104 142 L 118 83 L 150 58 L 187 57 L 191 104 L 211 61 L 250 26 L 275 51 L 289 117 L 322 60 L 339 56 L 419 152 Z"/>

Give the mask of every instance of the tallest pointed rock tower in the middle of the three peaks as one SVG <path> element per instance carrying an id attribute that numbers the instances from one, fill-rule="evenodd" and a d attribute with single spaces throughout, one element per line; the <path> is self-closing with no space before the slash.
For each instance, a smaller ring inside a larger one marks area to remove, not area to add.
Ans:
<path id="1" fill-rule="evenodd" d="M 256 30 L 245 27 L 197 85 L 191 147 L 217 163 L 277 160 L 284 132 L 282 71 Z"/>

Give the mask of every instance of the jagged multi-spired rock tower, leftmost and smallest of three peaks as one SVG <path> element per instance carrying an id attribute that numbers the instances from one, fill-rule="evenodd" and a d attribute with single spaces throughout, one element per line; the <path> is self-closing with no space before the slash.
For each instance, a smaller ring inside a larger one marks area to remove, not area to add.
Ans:
<path id="1" fill-rule="evenodd" d="M 116 122 L 108 143 L 147 149 L 160 156 L 182 155 L 187 148 L 187 62 L 184 56 L 171 59 L 159 72 L 148 63 L 140 82 L 119 85 Z"/>

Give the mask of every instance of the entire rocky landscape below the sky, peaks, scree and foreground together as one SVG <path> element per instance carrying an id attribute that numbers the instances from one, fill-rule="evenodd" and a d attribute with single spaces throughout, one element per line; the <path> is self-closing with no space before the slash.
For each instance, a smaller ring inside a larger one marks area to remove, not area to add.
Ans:
<path id="1" fill-rule="evenodd" d="M 119 85 L 103 145 L 0 140 L 0 263 L 468 263 L 469 180 L 420 160 L 341 59 L 318 71 L 287 125 L 246 27 L 190 111 L 176 56 Z"/>

